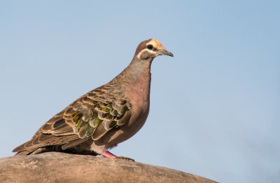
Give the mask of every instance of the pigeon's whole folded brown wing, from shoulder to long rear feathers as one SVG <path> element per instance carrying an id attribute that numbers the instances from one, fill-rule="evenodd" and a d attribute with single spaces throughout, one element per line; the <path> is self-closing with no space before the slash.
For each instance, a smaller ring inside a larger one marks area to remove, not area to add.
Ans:
<path id="1" fill-rule="evenodd" d="M 108 87 L 108 86 L 107 86 Z M 29 142 L 13 151 L 25 151 L 55 144 L 83 142 L 79 139 L 99 140 L 112 128 L 130 119 L 130 102 L 118 91 L 96 88 L 70 104 L 47 121 Z M 66 149 L 66 148 L 65 148 Z"/>

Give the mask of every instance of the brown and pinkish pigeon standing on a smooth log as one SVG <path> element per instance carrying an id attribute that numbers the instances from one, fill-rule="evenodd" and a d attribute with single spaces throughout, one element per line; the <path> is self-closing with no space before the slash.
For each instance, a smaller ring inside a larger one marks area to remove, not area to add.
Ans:
<path id="1" fill-rule="evenodd" d="M 118 158 L 108 150 L 135 135 L 150 109 L 151 64 L 174 55 L 156 39 L 139 43 L 130 64 L 109 83 L 78 98 L 50 118 L 15 156 L 61 151 Z"/>

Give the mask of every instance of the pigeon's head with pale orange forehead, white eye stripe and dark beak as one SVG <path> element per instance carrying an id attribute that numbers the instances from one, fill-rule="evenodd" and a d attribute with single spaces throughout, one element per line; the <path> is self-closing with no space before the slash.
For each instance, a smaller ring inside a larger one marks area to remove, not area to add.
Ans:
<path id="1" fill-rule="evenodd" d="M 134 57 L 136 56 L 139 60 L 153 60 L 158 55 L 173 57 L 173 54 L 165 50 L 165 47 L 158 40 L 148 39 L 139 44 Z"/>

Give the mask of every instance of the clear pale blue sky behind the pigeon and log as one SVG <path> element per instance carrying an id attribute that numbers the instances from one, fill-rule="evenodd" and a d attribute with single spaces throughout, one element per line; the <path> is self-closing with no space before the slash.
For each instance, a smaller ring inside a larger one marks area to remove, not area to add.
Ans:
<path id="1" fill-rule="evenodd" d="M 0 158 L 158 39 L 143 128 L 111 152 L 218 182 L 280 180 L 280 1 L 1 1 Z"/>

